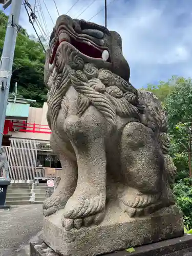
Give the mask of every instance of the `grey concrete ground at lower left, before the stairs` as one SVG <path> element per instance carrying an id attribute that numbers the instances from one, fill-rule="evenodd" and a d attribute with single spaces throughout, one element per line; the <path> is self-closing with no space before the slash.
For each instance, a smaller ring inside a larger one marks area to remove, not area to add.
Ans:
<path id="1" fill-rule="evenodd" d="M 42 229 L 42 205 L 0 209 L 0 256 L 28 256 L 29 241 Z"/>

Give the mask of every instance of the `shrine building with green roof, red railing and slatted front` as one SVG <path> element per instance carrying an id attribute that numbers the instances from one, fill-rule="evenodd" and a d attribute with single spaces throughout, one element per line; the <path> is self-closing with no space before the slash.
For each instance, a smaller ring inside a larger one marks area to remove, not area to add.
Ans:
<path id="1" fill-rule="evenodd" d="M 31 101 L 8 99 L 2 144 L 12 180 L 46 180 L 59 176 L 61 169 L 49 143 L 51 131 L 46 118 L 47 103 L 42 108 L 33 108 Z"/>

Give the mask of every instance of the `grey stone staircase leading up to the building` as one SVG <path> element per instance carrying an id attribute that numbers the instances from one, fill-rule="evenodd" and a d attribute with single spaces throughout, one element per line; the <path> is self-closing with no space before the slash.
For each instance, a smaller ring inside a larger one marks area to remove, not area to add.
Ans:
<path id="1" fill-rule="evenodd" d="M 7 188 L 6 205 L 42 204 L 48 188 L 47 183 L 11 183 Z"/>

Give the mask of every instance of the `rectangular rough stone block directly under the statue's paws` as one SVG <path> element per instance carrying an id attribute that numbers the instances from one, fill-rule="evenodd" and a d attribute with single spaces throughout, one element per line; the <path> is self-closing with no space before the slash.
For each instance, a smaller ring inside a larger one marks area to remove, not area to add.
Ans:
<path id="1" fill-rule="evenodd" d="M 43 238 L 64 256 L 94 256 L 183 236 L 182 214 L 177 206 L 156 211 L 151 216 L 129 218 L 116 204 L 109 204 L 98 226 L 66 231 L 61 226 L 63 209 L 44 217 Z"/>

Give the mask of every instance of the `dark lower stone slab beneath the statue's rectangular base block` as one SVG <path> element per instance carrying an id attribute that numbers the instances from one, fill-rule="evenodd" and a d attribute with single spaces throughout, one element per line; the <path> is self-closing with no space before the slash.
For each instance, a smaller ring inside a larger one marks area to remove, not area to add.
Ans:
<path id="1" fill-rule="evenodd" d="M 87 254 L 82 254 L 87 255 Z M 129 256 L 130 252 L 118 251 L 105 256 Z M 192 235 L 169 239 L 135 248 L 132 256 L 192 256 Z M 30 256 L 58 256 L 43 240 L 30 243 Z"/>

